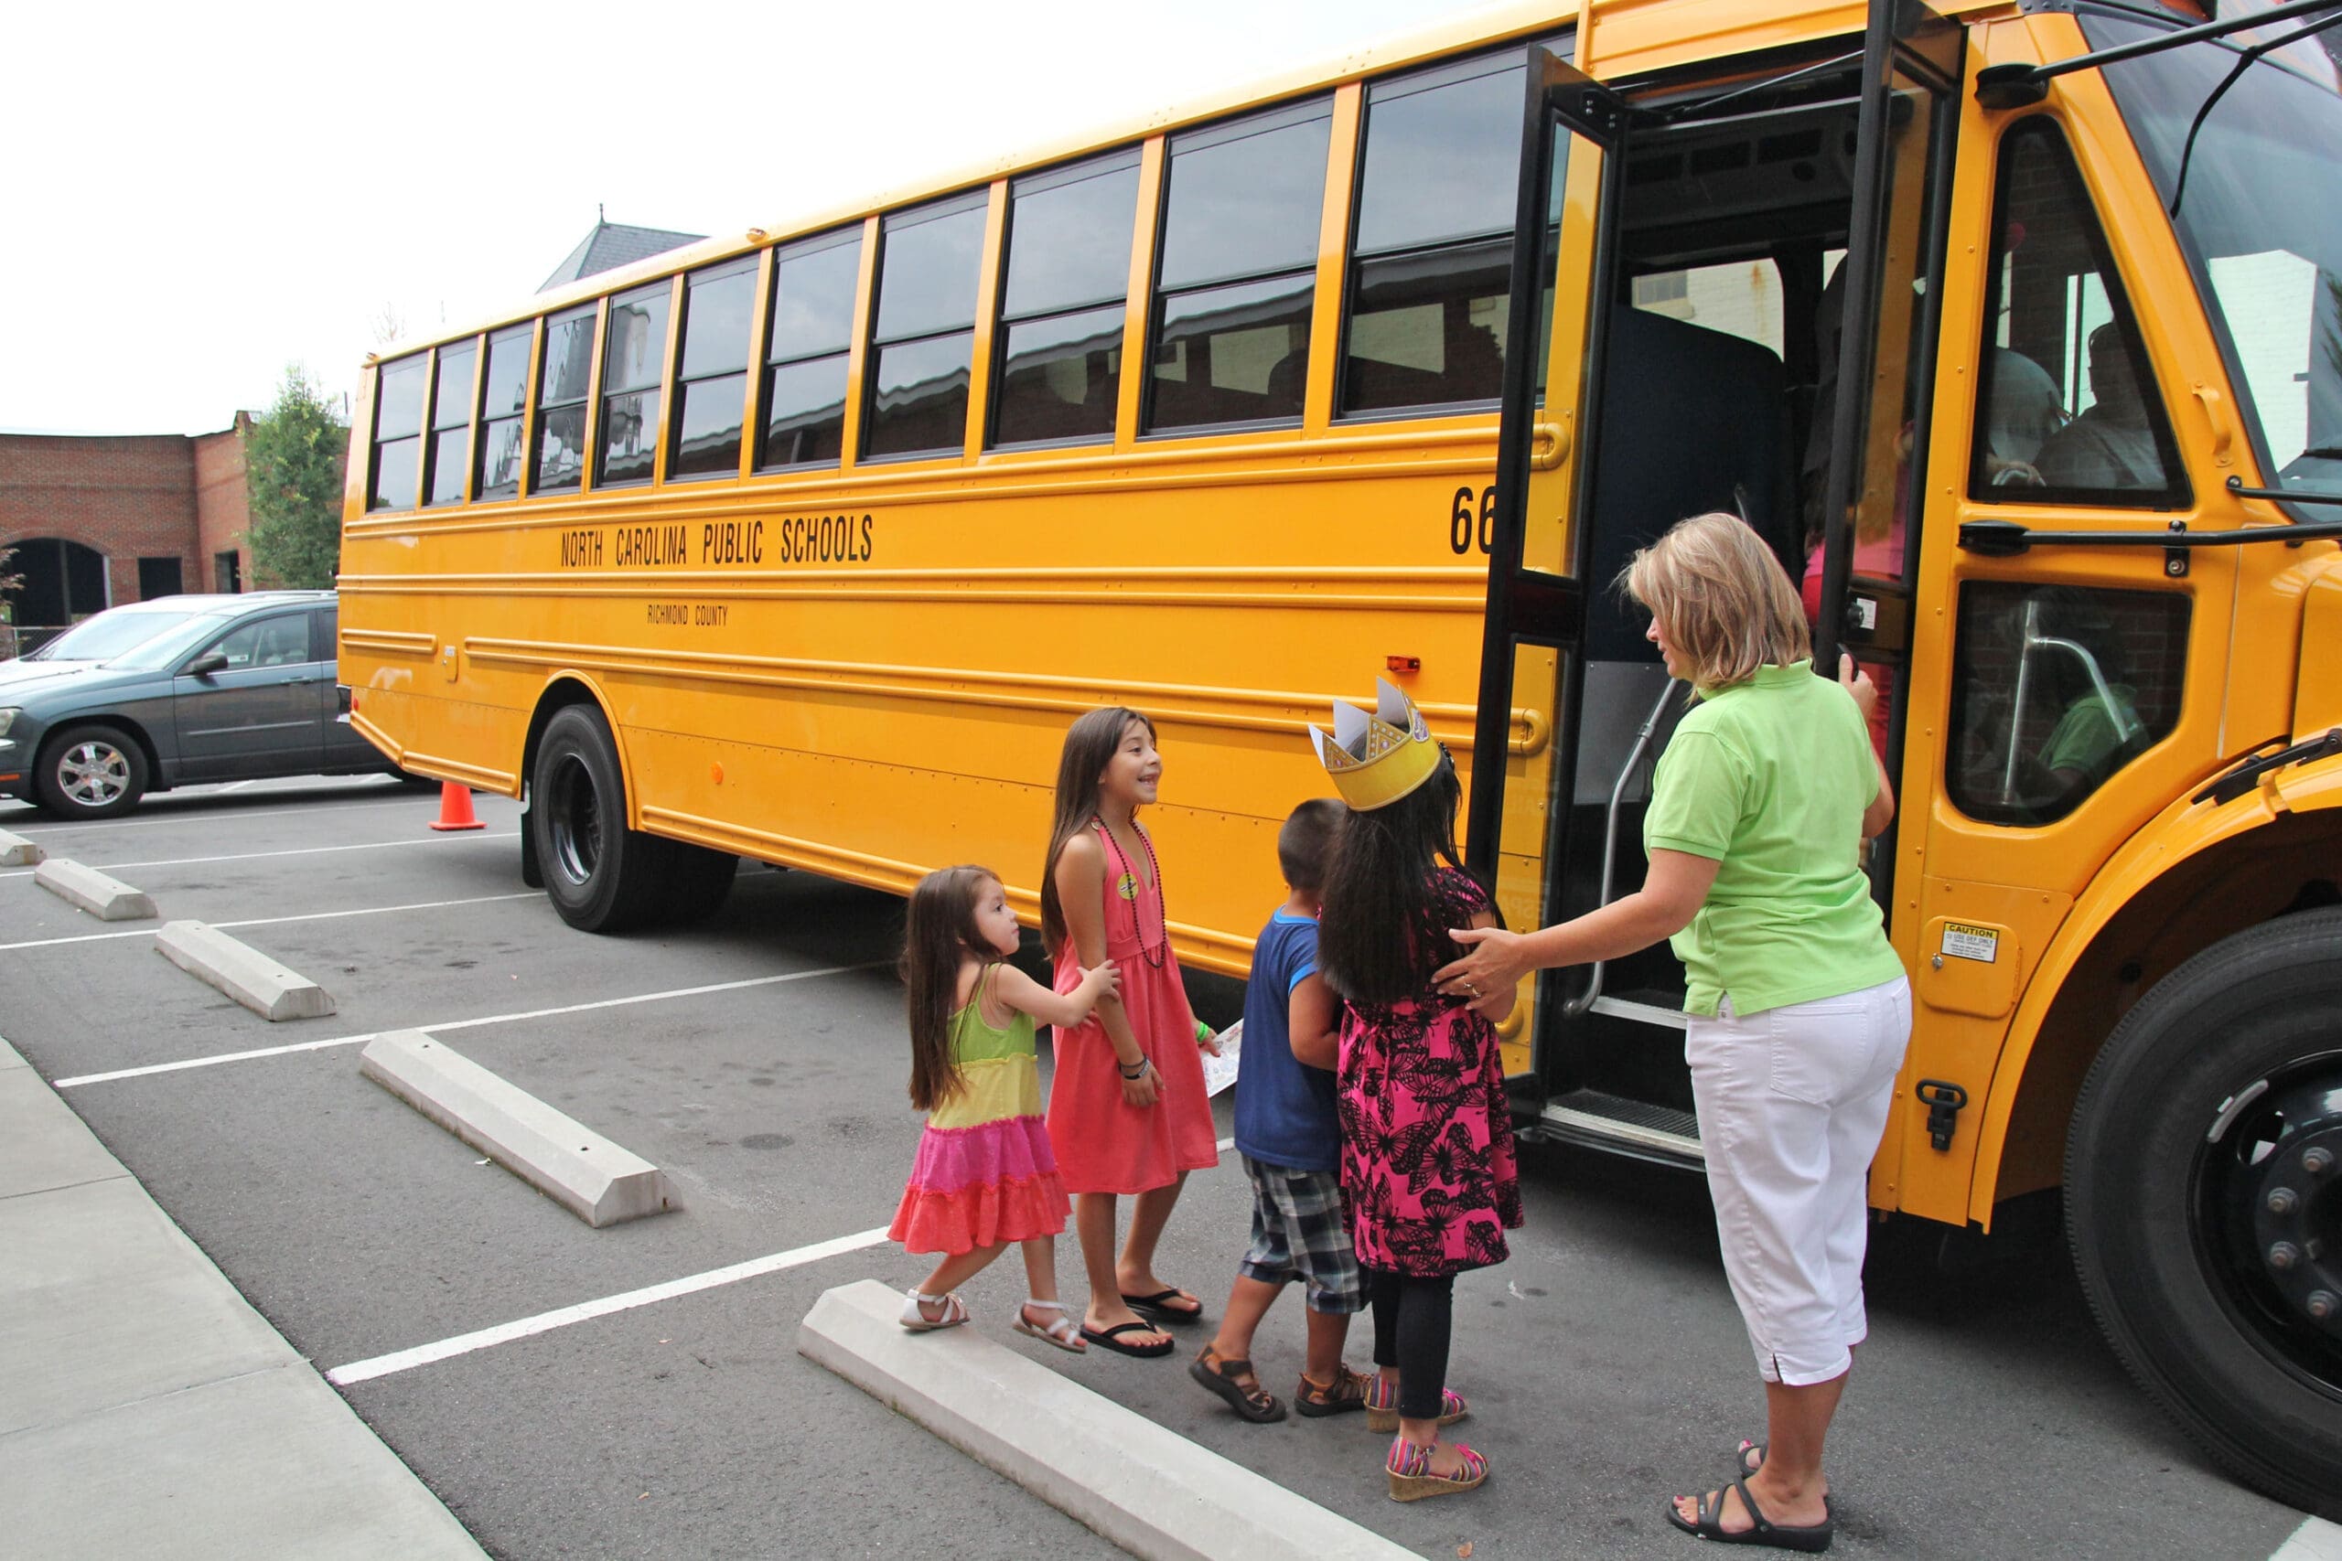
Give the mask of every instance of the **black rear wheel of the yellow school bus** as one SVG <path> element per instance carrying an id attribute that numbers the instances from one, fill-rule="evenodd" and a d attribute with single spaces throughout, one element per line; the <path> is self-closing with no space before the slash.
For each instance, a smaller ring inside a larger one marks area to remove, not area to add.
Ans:
<path id="1" fill-rule="evenodd" d="M 546 899 L 581 931 L 625 931 L 665 910 L 667 843 L 625 826 L 618 744 L 593 704 L 546 723 L 529 782 Z"/>

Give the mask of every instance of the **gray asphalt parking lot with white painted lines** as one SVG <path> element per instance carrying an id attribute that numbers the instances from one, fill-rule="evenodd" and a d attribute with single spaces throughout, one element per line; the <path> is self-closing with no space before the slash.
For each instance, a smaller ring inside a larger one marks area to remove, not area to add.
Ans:
<path id="1" fill-rule="evenodd" d="M 522 887 L 513 803 L 480 798 L 487 828 L 452 835 L 426 828 L 436 805 L 386 779 L 166 793 L 94 826 L 0 805 L 0 828 L 340 1004 L 269 1025 L 157 957 L 159 922 L 101 924 L 0 871 L 0 1034 L 497 1556 L 1119 1554 L 794 1353 L 822 1290 L 925 1271 L 876 1236 L 920 1126 L 897 901 L 749 864 L 700 927 L 593 938 Z M 1227 1018 L 1234 992 L 1208 983 L 1199 1009 Z M 656 1161 L 679 1208 L 593 1231 L 480 1163 L 358 1077 L 354 1037 L 403 1027 Z M 1705 1189 L 1543 1147 L 1522 1170 L 1513 1261 L 1457 1287 L 1461 1435 L 1494 1465 L 1471 1498 L 1384 1500 L 1363 1418 L 1248 1428 L 1178 1360 L 1016 1339 L 1014 1261 L 970 1301 L 988 1334 L 1424 1556 L 1686 1556 L 1660 1500 L 1761 1435 Z M 1213 1313 L 1246 1208 L 1230 1156 L 1164 1243 Z M 752 1259 L 771 1261 L 672 1285 Z M 1077 1266 L 1068 1236 L 1061 1283 Z M 1361 1325 L 1354 1364 L 1365 1343 Z M 1295 1299 L 1255 1357 L 1288 1392 Z M 2131 1388 L 2056 1243 L 1944 1273 L 1930 1231 L 1888 1226 L 1831 1449 L 1850 1556 L 2262 1561 L 2302 1524 Z"/>

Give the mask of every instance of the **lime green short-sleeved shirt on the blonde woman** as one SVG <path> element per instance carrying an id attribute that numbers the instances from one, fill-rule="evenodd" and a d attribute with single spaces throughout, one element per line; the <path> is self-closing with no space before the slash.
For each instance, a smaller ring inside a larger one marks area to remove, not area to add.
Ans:
<path id="1" fill-rule="evenodd" d="M 1714 1016 L 1860 992 L 1904 974 L 1862 875 L 1862 812 L 1878 796 L 1862 711 L 1813 662 L 1761 667 L 1677 723 L 1651 777 L 1646 852 L 1717 864 L 1675 934 L 1686 1013 Z"/>

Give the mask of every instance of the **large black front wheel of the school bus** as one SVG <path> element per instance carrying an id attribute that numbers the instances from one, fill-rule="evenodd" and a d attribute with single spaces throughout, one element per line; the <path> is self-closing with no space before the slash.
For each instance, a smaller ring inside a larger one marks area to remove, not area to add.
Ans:
<path id="1" fill-rule="evenodd" d="M 2066 1231 L 2115 1355 L 2246 1484 L 2342 1517 L 2342 910 L 2225 938 L 2115 1027 Z"/>

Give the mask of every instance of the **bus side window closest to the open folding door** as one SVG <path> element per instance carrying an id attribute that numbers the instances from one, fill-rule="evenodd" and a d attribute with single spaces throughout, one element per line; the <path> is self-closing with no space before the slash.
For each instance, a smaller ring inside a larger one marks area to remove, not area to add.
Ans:
<path id="1" fill-rule="evenodd" d="M 1501 388 L 1520 73 L 1497 56 L 1368 87 L 1342 412 Z"/>

